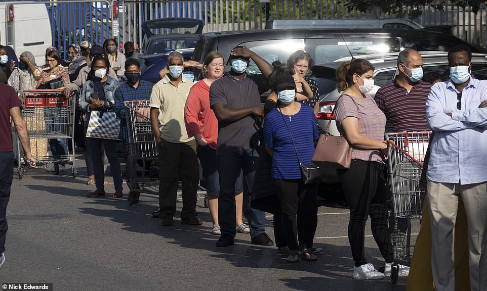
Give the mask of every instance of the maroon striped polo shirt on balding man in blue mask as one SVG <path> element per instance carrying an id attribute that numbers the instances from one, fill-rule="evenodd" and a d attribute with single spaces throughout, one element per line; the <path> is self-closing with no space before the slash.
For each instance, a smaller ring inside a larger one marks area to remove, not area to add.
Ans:
<path id="1" fill-rule="evenodd" d="M 408 92 L 396 78 L 377 91 L 375 101 L 396 131 L 430 130 L 426 122 L 426 100 L 430 88 L 430 83 L 419 81 Z"/>

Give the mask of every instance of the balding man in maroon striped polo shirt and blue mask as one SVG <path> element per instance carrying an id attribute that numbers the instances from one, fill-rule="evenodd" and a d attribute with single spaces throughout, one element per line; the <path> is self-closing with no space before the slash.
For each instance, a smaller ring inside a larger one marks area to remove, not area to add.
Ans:
<path id="1" fill-rule="evenodd" d="M 397 69 L 399 75 L 377 91 L 377 106 L 394 128 L 392 131 L 429 130 L 426 100 L 431 84 L 421 81 L 423 58 L 415 50 L 405 49 L 397 56 Z"/>

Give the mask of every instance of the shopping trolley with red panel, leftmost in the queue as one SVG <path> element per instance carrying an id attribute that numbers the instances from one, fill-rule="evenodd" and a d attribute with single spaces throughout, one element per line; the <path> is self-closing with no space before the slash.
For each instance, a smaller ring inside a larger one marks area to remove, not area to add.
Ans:
<path id="1" fill-rule="evenodd" d="M 22 104 L 22 117 L 29 133 L 32 156 L 37 166 L 55 163 L 59 175 L 59 164 L 72 165 L 73 178 L 76 177 L 74 153 L 66 152 L 63 156 L 48 155 L 48 139 L 65 138 L 71 140 L 74 149 L 74 95 L 64 96 L 63 90 L 25 90 L 19 92 Z M 18 176 L 22 179 L 25 160 L 21 154 L 20 140 L 17 138 Z"/>

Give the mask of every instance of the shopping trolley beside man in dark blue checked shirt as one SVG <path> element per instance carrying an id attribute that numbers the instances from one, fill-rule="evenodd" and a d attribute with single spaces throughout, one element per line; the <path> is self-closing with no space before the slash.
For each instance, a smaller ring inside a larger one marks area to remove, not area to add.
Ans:
<path id="1" fill-rule="evenodd" d="M 129 177 L 129 205 L 133 205 L 140 193 L 159 195 L 159 178 L 147 173 L 147 164 L 158 160 L 157 142 L 150 125 L 149 101 L 126 101 L 129 149 L 127 176 Z M 140 167 L 138 167 L 140 165 Z M 197 199 L 205 195 L 205 188 L 198 186 Z M 178 187 L 178 201 L 181 198 L 181 182 Z"/>

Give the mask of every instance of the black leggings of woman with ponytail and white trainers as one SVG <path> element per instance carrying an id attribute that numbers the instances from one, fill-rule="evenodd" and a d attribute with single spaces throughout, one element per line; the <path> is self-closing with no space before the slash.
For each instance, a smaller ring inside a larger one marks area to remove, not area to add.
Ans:
<path id="1" fill-rule="evenodd" d="M 338 172 L 350 207 L 348 240 L 355 266 L 367 264 L 364 253 L 365 226 L 371 217 L 372 235 L 386 263 L 393 260 L 387 209 L 388 190 L 384 166 L 377 162 L 352 160 L 350 169 Z"/>

